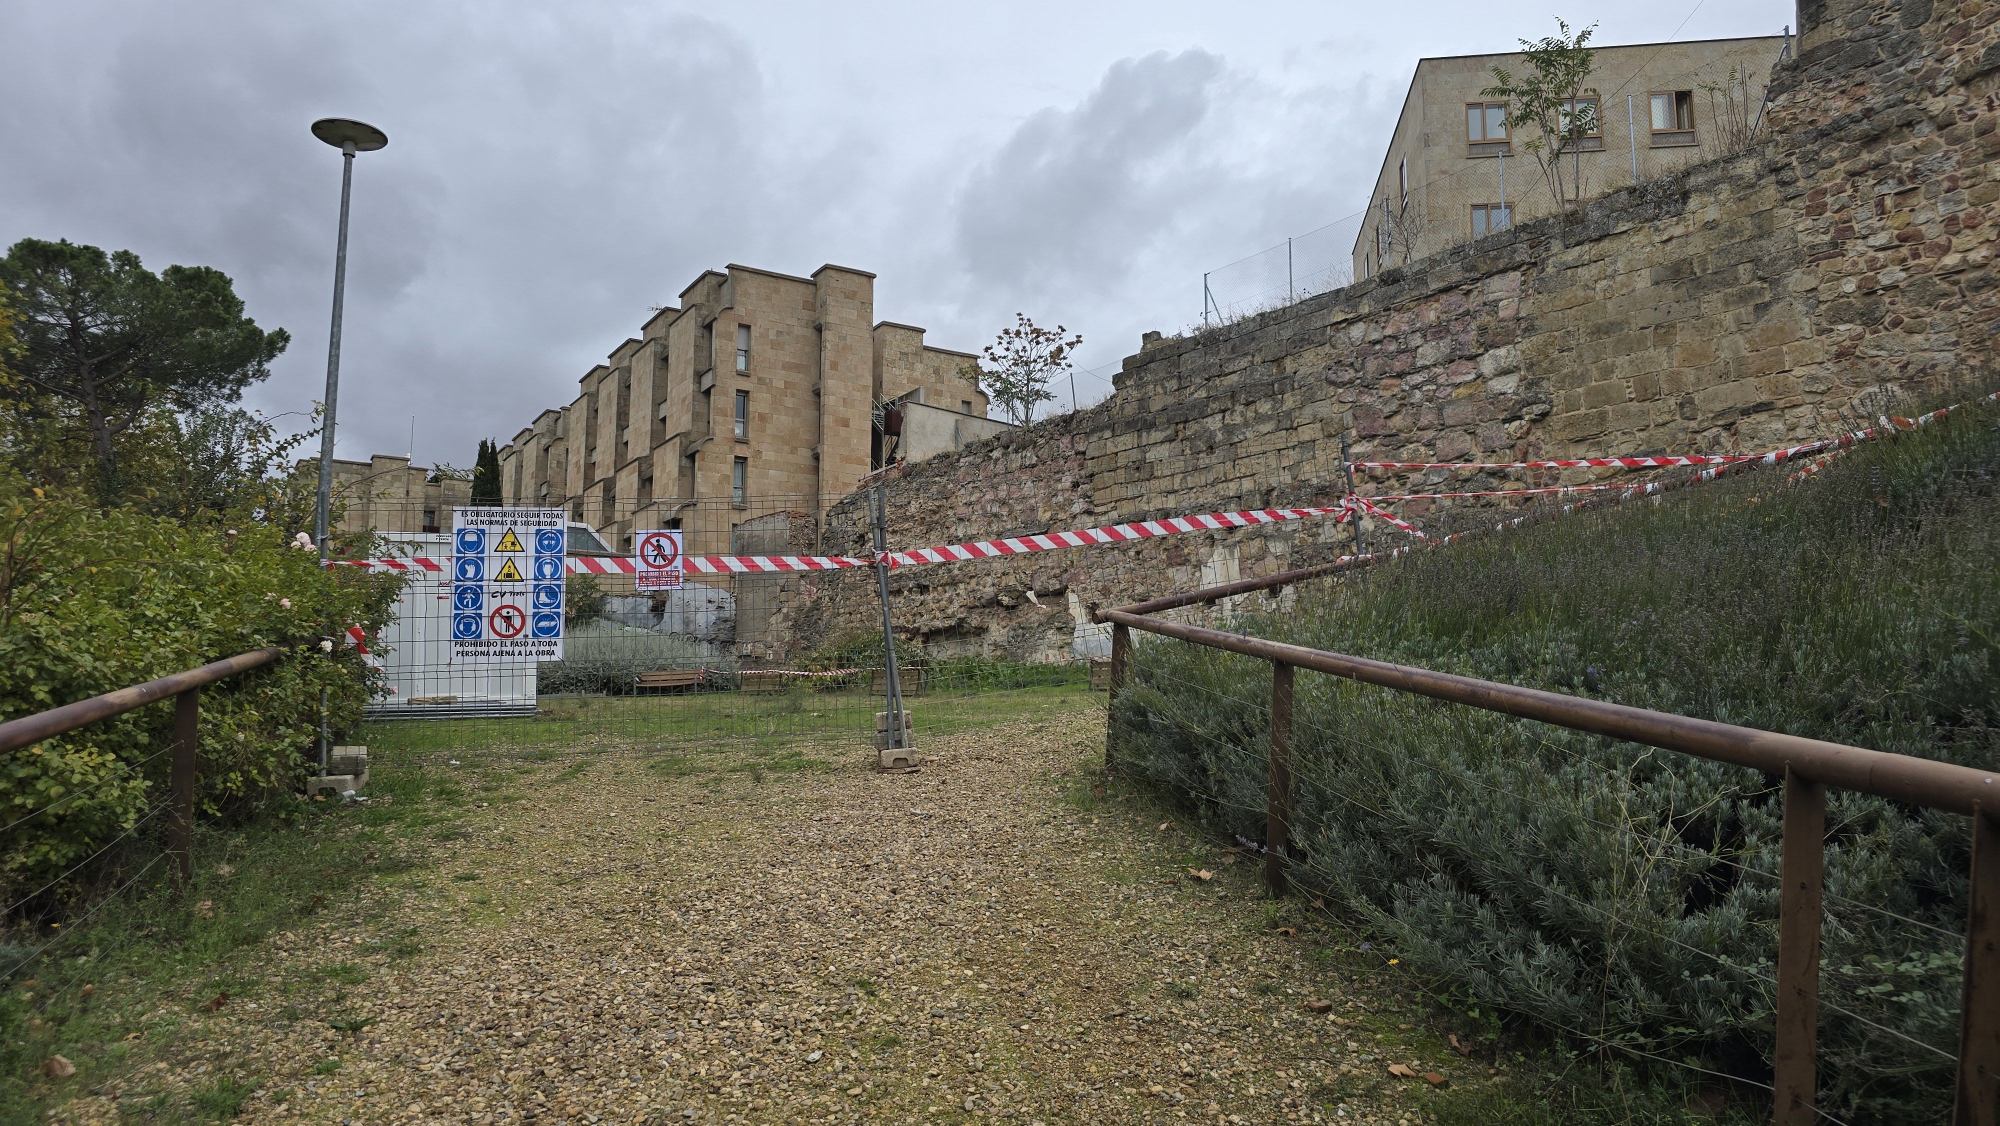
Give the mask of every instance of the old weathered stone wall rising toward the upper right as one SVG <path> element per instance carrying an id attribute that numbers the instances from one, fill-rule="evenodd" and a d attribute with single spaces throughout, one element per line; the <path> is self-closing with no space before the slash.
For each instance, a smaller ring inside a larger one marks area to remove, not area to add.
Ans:
<path id="1" fill-rule="evenodd" d="M 1814 0 L 1800 18 L 1754 148 L 1252 320 L 1148 338 L 1102 406 L 890 480 L 890 544 L 1328 502 L 1346 486 L 1342 436 L 1356 460 L 1404 462 L 1744 452 L 1836 434 L 1872 396 L 1990 384 L 2000 8 Z M 1460 472 L 1448 488 L 1508 480 L 1528 478 Z M 1350 536 L 1322 520 L 904 568 L 896 620 L 938 652 L 1062 658 L 1100 644 L 1082 624 L 1096 606 L 1302 566 Z M 866 552 L 860 498 L 830 512 L 826 546 Z M 796 658 L 876 612 L 872 576 L 806 576 L 774 624 Z"/>

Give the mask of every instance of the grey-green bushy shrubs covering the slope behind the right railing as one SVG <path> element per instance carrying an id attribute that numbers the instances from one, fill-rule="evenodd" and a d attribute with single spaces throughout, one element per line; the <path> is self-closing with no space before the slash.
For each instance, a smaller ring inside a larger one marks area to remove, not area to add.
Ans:
<path id="1" fill-rule="evenodd" d="M 2000 768 L 2000 412 L 1420 552 L 1236 626 L 1400 664 Z M 1122 768 L 1262 838 L 1266 664 L 1146 638 Z M 1300 884 L 1468 998 L 1768 1076 L 1778 780 L 1298 676 Z M 1950 1098 L 1966 818 L 1828 796 L 1822 1106 Z M 1938 1048 L 1926 1050 L 1920 1044 Z"/>

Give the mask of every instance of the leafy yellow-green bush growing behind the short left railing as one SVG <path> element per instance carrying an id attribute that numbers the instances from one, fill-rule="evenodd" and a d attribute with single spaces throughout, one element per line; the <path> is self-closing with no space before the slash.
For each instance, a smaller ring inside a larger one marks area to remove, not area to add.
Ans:
<path id="1" fill-rule="evenodd" d="M 400 582 L 322 570 L 282 528 L 96 510 L 0 474 L 0 720 L 286 646 L 202 690 L 200 808 L 244 810 L 300 778 L 322 690 L 336 730 L 360 718 L 374 674 L 344 630 L 380 628 Z M 0 756 L 6 902 L 108 844 L 154 840 L 170 744 L 162 702 Z"/>

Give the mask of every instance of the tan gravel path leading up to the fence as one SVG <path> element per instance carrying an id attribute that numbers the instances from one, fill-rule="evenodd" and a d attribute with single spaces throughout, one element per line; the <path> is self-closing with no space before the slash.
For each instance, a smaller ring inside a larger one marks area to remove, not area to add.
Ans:
<path id="1" fill-rule="evenodd" d="M 346 966 L 348 1016 L 196 1014 L 158 1078 L 350 1126 L 1396 1124 L 1434 1094 L 1388 1064 L 1484 1078 L 1346 978 L 1338 932 L 1260 902 L 1254 862 L 1102 798 L 1100 748 L 1094 710 L 938 740 L 910 776 L 468 762 L 526 798 L 272 954 Z"/>

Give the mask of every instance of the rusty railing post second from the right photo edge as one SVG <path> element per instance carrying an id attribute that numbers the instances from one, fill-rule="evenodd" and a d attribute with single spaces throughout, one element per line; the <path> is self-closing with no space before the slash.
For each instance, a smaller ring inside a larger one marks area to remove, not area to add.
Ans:
<path id="1" fill-rule="evenodd" d="M 1826 786 L 1784 768 L 1784 860 L 1778 868 L 1778 1046 L 1774 1122 L 1812 1126 L 1820 1048 L 1820 882 L 1826 876 Z"/>

